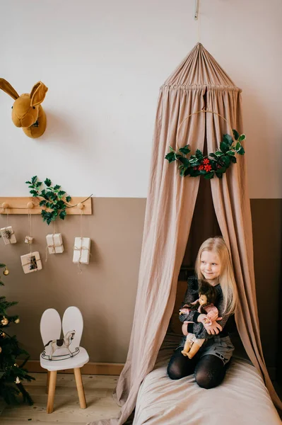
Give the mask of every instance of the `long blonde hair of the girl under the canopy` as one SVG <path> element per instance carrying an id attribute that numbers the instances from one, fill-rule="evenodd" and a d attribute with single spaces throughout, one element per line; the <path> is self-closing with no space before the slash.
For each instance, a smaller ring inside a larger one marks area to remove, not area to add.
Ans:
<path id="1" fill-rule="evenodd" d="M 201 244 L 195 264 L 195 272 L 198 279 L 205 278 L 201 273 L 201 254 L 204 251 L 212 251 L 214 254 L 218 255 L 218 258 L 221 261 L 221 273 L 218 280 L 221 283 L 221 289 L 223 292 L 224 312 L 225 314 L 233 314 L 238 300 L 237 285 L 235 282 L 230 253 L 223 237 L 210 237 Z"/>

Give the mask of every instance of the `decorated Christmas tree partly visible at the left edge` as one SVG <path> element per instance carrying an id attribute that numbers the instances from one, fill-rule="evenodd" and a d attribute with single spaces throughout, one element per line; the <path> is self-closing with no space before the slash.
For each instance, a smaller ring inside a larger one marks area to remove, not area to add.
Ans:
<path id="1" fill-rule="evenodd" d="M 7 276 L 9 271 L 6 265 L 0 263 L 0 268 L 4 268 L 4 276 Z M 4 285 L 1 280 L 0 285 Z M 28 358 L 20 365 L 16 363 L 18 356 L 23 354 L 28 356 L 28 353 L 18 346 L 16 336 L 10 336 L 7 332 L 9 324 L 20 322 L 18 316 L 9 316 L 6 313 L 9 307 L 16 304 L 18 304 L 17 301 L 8 302 L 6 297 L 0 296 L 0 398 L 8 404 L 22 400 L 33 404 L 33 400 L 22 384 L 23 380 L 34 379 L 28 375 L 28 370 L 23 368 Z"/>

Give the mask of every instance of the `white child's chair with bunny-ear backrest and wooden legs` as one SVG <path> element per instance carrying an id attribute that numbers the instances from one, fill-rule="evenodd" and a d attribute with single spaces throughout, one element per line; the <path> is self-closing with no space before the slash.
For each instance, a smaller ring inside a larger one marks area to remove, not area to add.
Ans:
<path id="1" fill-rule="evenodd" d="M 42 368 L 47 369 L 47 413 L 53 412 L 54 395 L 56 389 L 56 378 L 57 371 L 64 369 L 74 369 L 74 376 L 76 378 L 76 387 L 78 391 L 79 404 L 81 409 L 86 409 L 86 398 L 83 390 L 83 382 L 81 379 L 81 369 L 83 365 L 88 363 L 89 356 L 85 348 L 79 346 L 81 342 L 81 335 L 83 331 L 83 317 L 78 307 L 68 307 L 64 312 L 63 322 L 63 333 L 66 335 L 68 331 L 75 330 L 76 334 L 74 339 L 71 341 L 71 351 L 74 352 L 74 348 L 79 348 L 77 354 L 73 357 L 65 358 L 64 360 L 48 360 L 42 358 L 40 354 L 40 365 Z M 54 308 L 45 310 L 42 314 L 40 321 L 40 333 L 44 346 L 54 339 L 60 339 L 61 336 L 61 318 L 59 313 Z M 67 353 L 67 352 L 66 352 Z M 56 352 L 54 352 L 54 356 Z"/>

